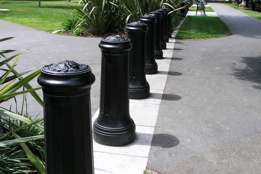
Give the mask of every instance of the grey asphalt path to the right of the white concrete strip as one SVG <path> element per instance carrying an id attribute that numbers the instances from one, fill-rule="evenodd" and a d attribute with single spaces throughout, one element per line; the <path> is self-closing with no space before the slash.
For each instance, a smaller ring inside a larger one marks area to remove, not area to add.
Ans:
<path id="1" fill-rule="evenodd" d="M 148 166 L 161 174 L 260 173 L 261 21 L 208 4 L 234 35 L 176 40 Z"/>

